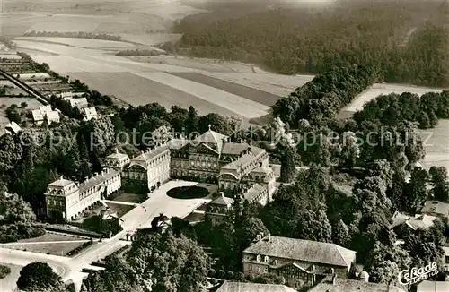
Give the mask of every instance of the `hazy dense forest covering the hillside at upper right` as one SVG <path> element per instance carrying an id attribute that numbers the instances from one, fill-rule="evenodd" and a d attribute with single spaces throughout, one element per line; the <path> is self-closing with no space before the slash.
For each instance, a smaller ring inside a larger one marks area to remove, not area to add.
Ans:
<path id="1" fill-rule="evenodd" d="M 439 3 L 218 7 L 176 23 L 174 31 L 183 33 L 179 52 L 261 64 L 286 74 L 370 64 L 382 69 L 385 82 L 449 86 L 447 9 Z"/>

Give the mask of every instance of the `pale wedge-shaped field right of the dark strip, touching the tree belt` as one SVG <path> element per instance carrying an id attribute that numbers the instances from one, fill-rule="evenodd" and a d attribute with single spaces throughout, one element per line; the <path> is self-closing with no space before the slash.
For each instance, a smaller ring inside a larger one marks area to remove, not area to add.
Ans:
<path id="1" fill-rule="evenodd" d="M 278 75 L 274 73 L 204 73 L 227 82 L 237 83 L 274 95 L 288 96 L 297 87 L 313 80 L 313 75 Z"/>

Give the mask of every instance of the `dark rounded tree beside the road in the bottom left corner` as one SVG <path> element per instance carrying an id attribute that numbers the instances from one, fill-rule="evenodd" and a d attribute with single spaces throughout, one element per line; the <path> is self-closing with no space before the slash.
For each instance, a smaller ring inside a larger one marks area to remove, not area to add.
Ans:
<path id="1" fill-rule="evenodd" d="M 22 291 L 66 291 L 64 283 L 45 262 L 31 262 L 22 268 L 17 279 L 17 287 Z"/>

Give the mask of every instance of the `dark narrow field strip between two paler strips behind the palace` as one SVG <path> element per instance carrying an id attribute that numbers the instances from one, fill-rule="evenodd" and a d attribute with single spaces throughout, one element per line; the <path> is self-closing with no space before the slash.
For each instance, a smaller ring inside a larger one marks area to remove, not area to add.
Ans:
<path id="1" fill-rule="evenodd" d="M 280 99 L 280 97 L 278 97 L 277 95 L 271 94 L 269 92 L 256 90 L 251 87 L 243 86 L 233 82 L 226 82 L 200 73 L 172 73 L 172 75 L 188 79 L 192 82 L 198 82 L 216 88 L 218 90 L 224 90 L 244 99 L 250 99 L 269 107 L 274 105 L 276 101 Z"/>

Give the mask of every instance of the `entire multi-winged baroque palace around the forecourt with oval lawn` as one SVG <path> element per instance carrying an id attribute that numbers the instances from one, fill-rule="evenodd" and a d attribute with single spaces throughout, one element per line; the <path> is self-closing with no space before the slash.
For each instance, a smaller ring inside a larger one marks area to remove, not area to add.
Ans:
<path id="1" fill-rule="evenodd" d="M 216 183 L 221 192 L 241 195 L 251 203 L 267 204 L 275 192 L 276 178 L 269 154 L 247 142 L 210 129 L 189 141 L 158 142 L 130 159 L 119 153 L 106 157 L 105 171 L 81 185 L 61 179 L 48 185 L 48 217 L 74 219 L 102 197 L 122 187 L 128 193 L 149 193 L 172 178 Z M 58 214 L 57 214 L 58 213 Z"/>

